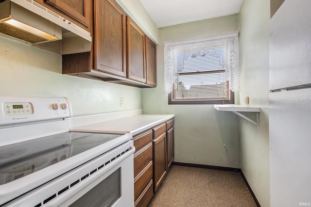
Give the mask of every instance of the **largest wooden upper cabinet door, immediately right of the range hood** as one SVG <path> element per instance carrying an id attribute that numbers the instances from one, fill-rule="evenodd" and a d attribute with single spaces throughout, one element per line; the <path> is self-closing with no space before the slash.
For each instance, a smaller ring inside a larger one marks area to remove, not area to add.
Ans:
<path id="1" fill-rule="evenodd" d="M 95 65 L 126 77 L 126 14 L 114 0 L 95 0 Z"/>

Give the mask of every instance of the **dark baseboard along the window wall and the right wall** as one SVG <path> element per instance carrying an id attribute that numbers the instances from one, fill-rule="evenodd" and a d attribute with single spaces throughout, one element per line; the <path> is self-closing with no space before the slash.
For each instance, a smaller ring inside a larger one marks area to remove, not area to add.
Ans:
<path id="1" fill-rule="evenodd" d="M 261 207 L 256 196 L 255 193 L 253 192 L 253 190 L 251 189 L 251 187 L 249 186 L 246 177 L 244 176 L 242 170 L 240 168 L 232 168 L 232 167 L 221 167 L 221 166 L 213 166 L 213 165 L 202 165 L 202 164 L 191 164 L 191 163 L 184 163 L 184 162 L 173 162 L 172 165 L 179 165 L 179 166 L 186 166 L 186 167 L 198 167 L 198 168 L 206 168 L 206 169 L 213 169 L 213 170 L 224 170 L 224 171 L 231 171 L 231 172 L 237 172 L 237 173 L 241 173 L 243 180 L 248 188 L 248 190 L 250 191 L 251 195 L 254 198 L 254 201 L 257 205 L 257 207 Z"/>

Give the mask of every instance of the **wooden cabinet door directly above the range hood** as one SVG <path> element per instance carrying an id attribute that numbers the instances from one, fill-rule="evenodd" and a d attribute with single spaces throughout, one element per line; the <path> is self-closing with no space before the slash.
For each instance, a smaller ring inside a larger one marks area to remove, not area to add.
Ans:
<path id="1" fill-rule="evenodd" d="M 87 28 L 90 27 L 90 2 L 91 0 L 45 0 Z"/>

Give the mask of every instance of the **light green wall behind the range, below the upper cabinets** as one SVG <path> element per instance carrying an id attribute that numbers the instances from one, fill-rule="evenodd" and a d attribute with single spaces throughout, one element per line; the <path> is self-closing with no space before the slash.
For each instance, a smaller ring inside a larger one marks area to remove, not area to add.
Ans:
<path id="1" fill-rule="evenodd" d="M 0 36 L 0 96 L 66 96 L 81 115 L 139 109 L 140 91 L 63 75 L 61 55 Z"/>

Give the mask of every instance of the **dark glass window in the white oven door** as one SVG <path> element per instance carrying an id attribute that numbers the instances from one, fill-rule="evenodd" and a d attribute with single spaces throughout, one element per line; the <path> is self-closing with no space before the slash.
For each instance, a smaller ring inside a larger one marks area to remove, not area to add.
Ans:
<path id="1" fill-rule="evenodd" d="M 110 207 L 121 197 L 120 168 L 106 177 L 70 207 Z"/>

